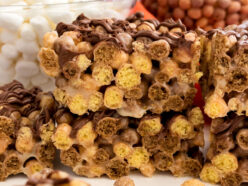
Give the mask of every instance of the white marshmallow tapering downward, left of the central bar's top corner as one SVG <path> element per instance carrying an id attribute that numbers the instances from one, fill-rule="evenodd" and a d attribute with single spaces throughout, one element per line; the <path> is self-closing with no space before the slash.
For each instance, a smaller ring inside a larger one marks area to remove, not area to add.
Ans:
<path id="1" fill-rule="evenodd" d="M 49 23 L 43 16 L 36 16 L 30 20 L 30 24 L 33 26 L 40 40 L 43 40 L 43 36 L 46 32 L 51 30 Z"/>

